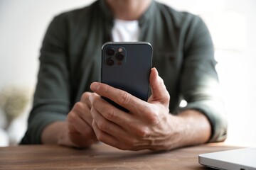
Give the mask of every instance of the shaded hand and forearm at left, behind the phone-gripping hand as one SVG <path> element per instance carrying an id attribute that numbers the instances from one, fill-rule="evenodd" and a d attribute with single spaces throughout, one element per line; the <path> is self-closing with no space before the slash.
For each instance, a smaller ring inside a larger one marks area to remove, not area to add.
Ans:
<path id="1" fill-rule="evenodd" d="M 85 92 L 78 103 L 68 113 L 65 122 L 55 122 L 48 125 L 42 134 L 44 144 L 58 144 L 68 147 L 90 147 L 97 142 L 92 129 L 92 115 L 90 114 L 90 92 Z"/>

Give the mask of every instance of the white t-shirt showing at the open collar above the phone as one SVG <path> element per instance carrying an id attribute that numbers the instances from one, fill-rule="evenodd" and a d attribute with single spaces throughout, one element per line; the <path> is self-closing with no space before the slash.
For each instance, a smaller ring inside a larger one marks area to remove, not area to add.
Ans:
<path id="1" fill-rule="evenodd" d="M 139 21 L 124 21 L 114 19 L 112 28 L 114 42 L 134 42 L 139 40 Z"/>

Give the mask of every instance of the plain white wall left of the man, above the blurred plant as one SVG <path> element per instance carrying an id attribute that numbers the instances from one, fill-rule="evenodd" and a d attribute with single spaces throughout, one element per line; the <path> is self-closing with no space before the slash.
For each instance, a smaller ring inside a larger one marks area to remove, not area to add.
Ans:
<path id="1" fill-rule="evenodd" d="M 82 0 L 0 1 L 0 88 L 36 84 L 38 55 L 48 23 L 56 14 L 85 6 Z"/>

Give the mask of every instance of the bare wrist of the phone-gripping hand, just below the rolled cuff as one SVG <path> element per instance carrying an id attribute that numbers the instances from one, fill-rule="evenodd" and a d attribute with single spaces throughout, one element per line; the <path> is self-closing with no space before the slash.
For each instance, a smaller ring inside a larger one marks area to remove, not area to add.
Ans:
<path id="1" fill-rule="evenodd" d="M 188 110 L 178 115 L 167 116 L 166 137 L 162 146 L 154 150 L 170 150 L 179 147 L 199 145 L 210 138 L 210 123 L 203 113 Z"/>

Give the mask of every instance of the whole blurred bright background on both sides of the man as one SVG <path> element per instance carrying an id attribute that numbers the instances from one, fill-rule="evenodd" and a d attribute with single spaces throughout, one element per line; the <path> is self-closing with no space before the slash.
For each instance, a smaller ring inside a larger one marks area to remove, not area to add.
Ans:
<path id="1" fill-rule="evenodd" d="M 53 16 L 94 0 L 0 0 L 0 146 L 17 145 L 36 86 L 41 42 Z M 159 0 L 206 22 L 228 116 L 228 145 L 256 147 L 256 1 Z"/>

